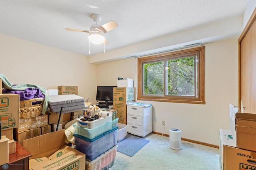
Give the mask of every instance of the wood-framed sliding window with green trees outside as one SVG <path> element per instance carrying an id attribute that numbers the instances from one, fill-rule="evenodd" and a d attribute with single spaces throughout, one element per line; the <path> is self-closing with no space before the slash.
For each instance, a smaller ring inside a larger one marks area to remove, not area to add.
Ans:
<path id="1" fill-rule="evenodd" d="M 205 104 L 204 47 L 138 58 L 138 100 Z"/>

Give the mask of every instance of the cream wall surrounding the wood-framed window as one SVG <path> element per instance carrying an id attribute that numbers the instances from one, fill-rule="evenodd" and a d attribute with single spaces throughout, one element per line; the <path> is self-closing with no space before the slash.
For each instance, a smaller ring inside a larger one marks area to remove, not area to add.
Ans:
<path id="1" fill-rule="evenodd" d="M 183 138 L 219 145 L 219 129 L 230 129 L 228 106 L 238 101 L 237 38 L 209 43 L 205 51 L 205 105 L 137 101 L 153 105 L 153 131 L 162 133 L 164 120 L 166 134 L 180 128 Z M 116 85 L 117 77 L 137 78 L 135 58 L 97 67 L 98 85 Z M 101 74 L 106 71 L 108 76 Z"/>

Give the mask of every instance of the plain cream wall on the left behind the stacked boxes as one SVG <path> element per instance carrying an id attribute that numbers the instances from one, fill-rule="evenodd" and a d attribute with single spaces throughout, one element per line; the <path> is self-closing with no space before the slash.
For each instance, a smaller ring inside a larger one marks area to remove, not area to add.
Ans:
<path id="1" fill-rule="evenodd" d="M 78 95 L 96 100 L 96 65 L 88 57 L 0 34 L 0 73 L 12 84 L 46 89 L 77 85 Z"/>

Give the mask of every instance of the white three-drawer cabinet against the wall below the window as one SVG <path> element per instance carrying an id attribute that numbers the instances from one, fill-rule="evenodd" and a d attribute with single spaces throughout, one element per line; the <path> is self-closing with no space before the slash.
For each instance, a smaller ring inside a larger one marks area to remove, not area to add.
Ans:
<path id="1" fill-rule="evenodd" d="M 127 132 L 142 137 L 152 132 L 151 104 L 127 104 Z"/>

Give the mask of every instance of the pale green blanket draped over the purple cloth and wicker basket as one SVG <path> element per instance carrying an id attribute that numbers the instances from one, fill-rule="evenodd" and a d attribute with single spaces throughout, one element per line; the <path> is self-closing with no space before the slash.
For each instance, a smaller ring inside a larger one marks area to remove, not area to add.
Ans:
<path id="1" fill-rule="evenodd" d="M 0 79 L 2 79 L 2 87 L 9 90 L 25 90 L 26 88 L 29 88 L 29 87 L 39 88 L 42 94 L 45 96 L 42 114 L 45 114 L 45 112 L 48 110 L 48 103 L 50 98 L 46 94 L 45 88 L 40 87 L 39 85 L 34 85 L 34 84 L 19 84 L 19 85 L 13 86 L 10 83 L 10 81 L 7 79 L 7 77 L 5 77 L 5 75 L 2 73 L 0 73 Z"/>

